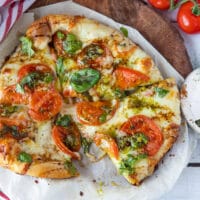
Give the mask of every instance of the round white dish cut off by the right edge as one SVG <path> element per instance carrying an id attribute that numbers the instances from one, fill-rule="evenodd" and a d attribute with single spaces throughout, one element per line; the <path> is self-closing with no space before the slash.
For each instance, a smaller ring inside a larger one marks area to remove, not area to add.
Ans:
<path id="1" fill-rule="evenodd" d="M 182 85 L 181 107 L 188 124 L 198 133 L 200 127 L 200 68 L 194 70 Z"/>

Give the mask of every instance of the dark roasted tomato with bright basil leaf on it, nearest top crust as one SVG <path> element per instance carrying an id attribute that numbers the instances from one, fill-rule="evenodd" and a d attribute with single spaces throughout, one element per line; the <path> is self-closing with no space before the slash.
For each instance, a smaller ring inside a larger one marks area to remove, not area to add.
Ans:
<path id="1" fill-rule="evenodd" d="M 73 33 L 58 31 L 54 35 L 54 47 L 58 55 L 73 55 L 82 48 L 82 42 Z"/>

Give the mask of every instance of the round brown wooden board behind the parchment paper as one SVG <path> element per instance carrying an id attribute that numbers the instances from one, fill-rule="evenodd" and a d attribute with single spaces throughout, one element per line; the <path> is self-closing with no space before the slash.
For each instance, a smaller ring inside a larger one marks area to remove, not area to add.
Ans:
<path id="1" fill-rule="evenodd" d="M 62 1 L 37 0 L 31 9 Z M 177 29 L 142 0 L 74 0 L 74 2 L 138 29 L 182 76 L 186 77 L 192 71 L 184 41 Z"/>

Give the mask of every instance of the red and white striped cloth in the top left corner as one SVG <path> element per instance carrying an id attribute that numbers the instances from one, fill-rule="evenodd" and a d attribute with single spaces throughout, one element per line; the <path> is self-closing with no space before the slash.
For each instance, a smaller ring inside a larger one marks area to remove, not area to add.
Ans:
<path id="1" fill-rule="evenodd" d="M 35 0 L 0 0 L 0 43 L 16 20 Z"/>

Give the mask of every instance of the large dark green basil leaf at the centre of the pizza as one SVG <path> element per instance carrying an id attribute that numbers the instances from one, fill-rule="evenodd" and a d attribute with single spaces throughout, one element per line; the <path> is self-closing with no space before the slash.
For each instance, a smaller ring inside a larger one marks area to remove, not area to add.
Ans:
<path id="1" fill-rule="evenodd" d="M 76 92 L 82 93 L 92 88 L 99 79 L 100 72 L 98 70 L 85 68 L 72 74 L 70 84 Z"/>

